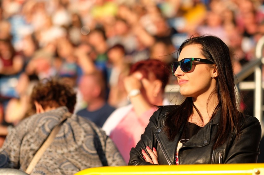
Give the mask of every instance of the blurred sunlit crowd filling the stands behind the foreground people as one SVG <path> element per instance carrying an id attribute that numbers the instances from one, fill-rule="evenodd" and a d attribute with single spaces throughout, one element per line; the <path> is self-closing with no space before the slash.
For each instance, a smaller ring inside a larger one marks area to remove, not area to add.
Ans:
<path id="1" fill-rule="evenodd" d="M 170 65 L 183 40 L 205 34 L 229 46 L 238 73 L 255 58 L 264 34 L 263 1 L 2 0 L 0 135 L 3 126 L 30 115 L 29 94 L 40 79 L 59 77 L 80 92 L 77 112 L 95 99 L 84 100 L 91 84 L 80 91 L 81 77 L 99 71 L 104 100 L 122 107 L 130 103 L 123 80 L 132 64 L 158 59 Z"/>

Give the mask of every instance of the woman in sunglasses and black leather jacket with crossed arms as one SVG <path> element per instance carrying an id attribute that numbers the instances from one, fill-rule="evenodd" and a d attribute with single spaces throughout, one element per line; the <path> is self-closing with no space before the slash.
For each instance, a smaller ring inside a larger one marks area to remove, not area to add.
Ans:
<path id="1" fill-rule="evenodd" d="M 216 36 L 191 37 L 178 52 L 172 73 L 186 98 L 153 113 L 129 165 L 257 162 L 261 126 L 238 110 L 227 45 Z"/>

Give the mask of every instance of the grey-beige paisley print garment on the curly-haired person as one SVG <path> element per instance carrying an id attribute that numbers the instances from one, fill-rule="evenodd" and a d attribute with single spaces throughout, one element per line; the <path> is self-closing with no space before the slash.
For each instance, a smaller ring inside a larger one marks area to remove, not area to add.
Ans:
<path id="1" fill-rule="evenodd" d="M 0 149 L 0 168 L 25 171 L 34 154 L 68 109 L 59 107 L 22 120 L 7 135 Z M 125 162 L 112 140 L 91 121 L 78 115 L 67 118 L 31 174 L 74 174 L 99 166 Z"/>

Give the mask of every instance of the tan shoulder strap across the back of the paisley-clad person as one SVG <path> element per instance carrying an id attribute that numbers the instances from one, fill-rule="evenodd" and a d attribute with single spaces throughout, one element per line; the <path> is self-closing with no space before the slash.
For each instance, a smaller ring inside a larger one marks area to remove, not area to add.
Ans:
<path id="1" fill-rule="evenodd" d="M 28 168 L 26 169 L 26 173 L 30 174 L 32 172 L 32 170 L 34 169 L 34 167 L 37 165 L 37 162 L 40 160 L 41 156 L 43 155 L 43 153 L 46 151 L 46 149 L 51 145 L 52 141 L 54 140 L 56 134 L 59 132 L 62 124 L 64 123 L 64 121 L 71 115 L 70 112 L 67 112 L 61 123 L 59 123 L 57 126 L 55 126 L 50 135 L 47 137 L 47 139 L 45 140 L 45 142 L 42 144 L 42 146 L 37 150 L 36 154 L 34 155 L 33 159 L 31 160 Z"/>

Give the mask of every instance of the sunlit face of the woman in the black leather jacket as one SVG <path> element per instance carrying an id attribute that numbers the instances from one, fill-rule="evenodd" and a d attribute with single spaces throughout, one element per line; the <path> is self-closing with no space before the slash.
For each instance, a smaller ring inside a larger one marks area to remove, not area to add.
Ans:
<path id="1" fill-rule="evenodd" d="M 190 57 L 206 59 L 201 53 L 200 44 L 184 47 L 178 61 Z M 212 78 L 212 75 L 217 76 L 215 69 L 203 62 L 192 61 L 191 70 L 188 72 L 183 72 L 179 66 L 174 74 L 180 85 L 180 93 L 185 97 L 198 98 L 201 95 L 208 97 L 216 87 L 216 81 Z"/>

